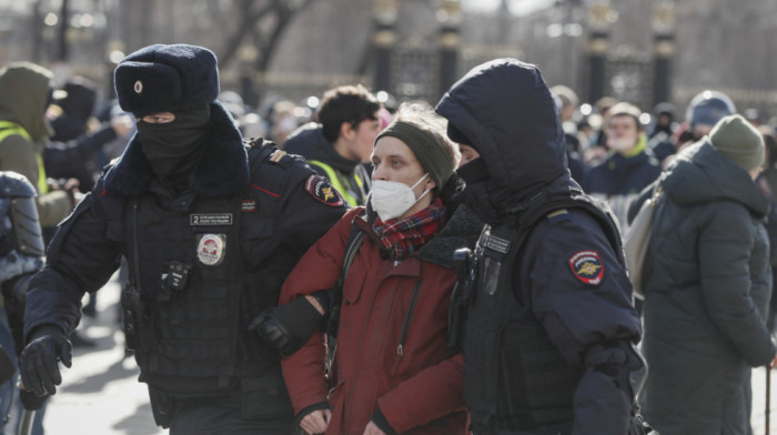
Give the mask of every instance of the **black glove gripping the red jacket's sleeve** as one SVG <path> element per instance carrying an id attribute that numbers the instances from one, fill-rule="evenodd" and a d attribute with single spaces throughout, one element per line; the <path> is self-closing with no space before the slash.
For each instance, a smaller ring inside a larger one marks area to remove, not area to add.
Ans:
<path id="1" fill-rule="evenodd" d="M 315 332 L 323 315 L 304 296 L 256 316 L 249 325 L 281 355 L 296 352 Z"/>

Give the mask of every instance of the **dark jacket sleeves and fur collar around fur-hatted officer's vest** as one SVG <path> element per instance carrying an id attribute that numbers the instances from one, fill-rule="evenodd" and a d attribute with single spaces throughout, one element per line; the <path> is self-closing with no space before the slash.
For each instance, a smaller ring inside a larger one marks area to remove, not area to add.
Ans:
<path id="1" fill-rule="evenodd" d="M 242 232 L 251 235 L 239 243 L 248 266 L 266 264 L 280 247 L 299 259 L 344 213 L 342 199 L 323 195 L 325 180 L 302 159 L 275 151 L 249 165 L 246 148 L 226 111 L 214 102 L 211 112 L 210 141 L 186 191 L 163 195 L 158 189 L 150 190 L 159 183 L 135 135 L 121 159 L 60 225 L 48 250 L 47 267 L 32 280 L 28 293 L 27 336 L 42 324 L 72 331 L 80 320 L 84 292 L 100 290 L 127 253 L 128 242 L 117 234 L 123 223 L 107 221 L 107 215 L 115 213 L 103 210 L 104 196 L 152 195 L 165 208 L 185 213 L 198 198 L 233 196 L 246 189 L 268 195 L 278 202 L 278 213 L 265 215 L 266 211 L 253 210 L 256 219 L 241 221 Z M 251 203 L 245 205 L 251 211 Z"/>

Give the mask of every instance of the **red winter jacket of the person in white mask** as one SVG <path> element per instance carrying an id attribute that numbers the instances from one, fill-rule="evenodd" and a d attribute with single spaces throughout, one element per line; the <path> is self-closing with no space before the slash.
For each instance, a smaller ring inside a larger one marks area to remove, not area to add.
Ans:
<path id="1" fill-rule="evenodd" d="M 333 411 L 326 434 L 362 435 L 379 407 L 398 434 L 466 433 L 462 355 L 451 356 L 446 348 L 456 277 L 453 269 L 436 263 L 450 261 L 455 249 L 472 247 L 480 233 L 472 212 L 457 211 L 418 255 L 397 265 L 381 257 L 373 237 L 364 237 L 343 286 L 332 391 L 324 380 L 320 332 L 284 358 L 296 413 L 329 401 Z M 281 304 L 332 287 L 342 272 L 352 222 L 370 229 L 360 218 L 363 212 L 346 213 L 307 251 L 284 283 Z"/>

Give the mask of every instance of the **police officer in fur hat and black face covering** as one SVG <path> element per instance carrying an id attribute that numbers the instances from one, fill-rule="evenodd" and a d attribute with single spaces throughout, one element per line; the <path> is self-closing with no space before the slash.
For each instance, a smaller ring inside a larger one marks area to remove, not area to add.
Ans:
<path id="1" fill-rule="evenodd" d="M 150 45 L 119 63 L 138 133 L 65 220 L 28 293 L 24 386 L 53 394 L 84 292 L 123 255 L 124 332 L 157 423 L 171 434 L 283 434 L 293 421 L 278 352 L 248 325 L 344 213 L 302 159 L 243 143 L 204 48 Z"/>

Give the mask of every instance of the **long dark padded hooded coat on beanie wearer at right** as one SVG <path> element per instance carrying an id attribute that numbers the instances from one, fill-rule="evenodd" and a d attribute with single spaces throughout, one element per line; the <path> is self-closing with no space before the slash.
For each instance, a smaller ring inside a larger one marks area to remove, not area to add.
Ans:
<path id="1" fill-rule="evenodd" d="M 667 169 L 646 263 L 640 396 L 662 434 L 747 434 L 750 367 L 775 356 L 763 219 L 748 173 L 703 140 Z"/>

